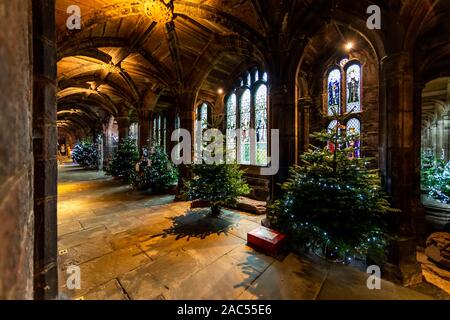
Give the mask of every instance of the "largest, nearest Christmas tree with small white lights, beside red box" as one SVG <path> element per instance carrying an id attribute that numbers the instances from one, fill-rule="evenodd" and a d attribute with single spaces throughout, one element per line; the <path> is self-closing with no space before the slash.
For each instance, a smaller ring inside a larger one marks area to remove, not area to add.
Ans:
<path id="1" fill-rule="evenodd" d="M 338 123 L 343 117 L 335 116 Z M 290 170 L 284 195 L 269 208 L 269 221 L 291 239 L 333 260 L 383 251 L 387 214 L 392 209 L 377 170 L 360 158 L 356 133 L 337 125 L 312 135 L 301 164 Z"/>

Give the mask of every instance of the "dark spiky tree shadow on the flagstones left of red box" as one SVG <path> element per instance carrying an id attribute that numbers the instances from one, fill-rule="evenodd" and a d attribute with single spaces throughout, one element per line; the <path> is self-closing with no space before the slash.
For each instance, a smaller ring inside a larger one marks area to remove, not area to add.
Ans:
<path id="1" fill-rule="evenodd" d="M 205 239 L 212 234 L 227 235 L 236 223 L 211 215 L 209 209 L 189 210 L 186 214 L 168 218 L 172 226 L 154 237 L 175 236 L 176 240 L 187 238 Z"/>

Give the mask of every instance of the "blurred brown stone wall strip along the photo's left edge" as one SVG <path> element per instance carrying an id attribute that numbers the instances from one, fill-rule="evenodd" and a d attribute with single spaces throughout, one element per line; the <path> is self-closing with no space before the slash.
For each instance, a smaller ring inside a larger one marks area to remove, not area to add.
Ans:
<path id="1" fill-rule="evenodd" d="M 33 297 L 30 12 L 0 2 L 0 299 Z"/>

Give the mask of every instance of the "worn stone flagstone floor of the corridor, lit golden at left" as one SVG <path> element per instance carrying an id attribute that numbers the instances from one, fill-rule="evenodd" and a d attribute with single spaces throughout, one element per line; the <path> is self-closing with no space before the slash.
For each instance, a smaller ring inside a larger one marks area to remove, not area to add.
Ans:
<path id="1" fill-rule="evenodd" d="M 133 192 L 103 173 L 59 168 L 60 295 L 69 299 L 429 299 L 318 258 L 273 259 L 246 246 L 262 216 L 211 217 L 173 196 Z M 67 266 L 81 289 L 66 286 Z"/>

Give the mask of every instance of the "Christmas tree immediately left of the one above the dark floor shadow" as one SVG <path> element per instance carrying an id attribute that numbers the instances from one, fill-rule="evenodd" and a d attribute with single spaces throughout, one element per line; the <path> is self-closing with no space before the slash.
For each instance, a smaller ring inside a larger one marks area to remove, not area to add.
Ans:
<path id="1" fill-rule="evenodd" d="M 144 152 L 145 154 L 145 152 Z M 178 170 L 160 146 L 155 146 L 149 157 L 142 156 L 133 178 L 133 189 L 154 193 L 169 190 L 178 181 Z"/>

